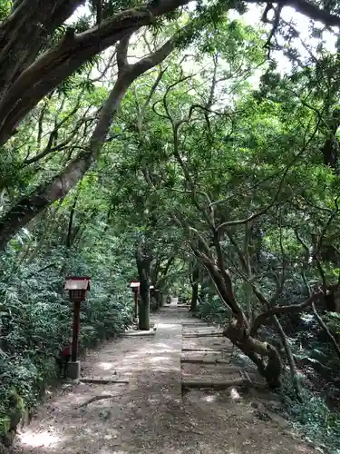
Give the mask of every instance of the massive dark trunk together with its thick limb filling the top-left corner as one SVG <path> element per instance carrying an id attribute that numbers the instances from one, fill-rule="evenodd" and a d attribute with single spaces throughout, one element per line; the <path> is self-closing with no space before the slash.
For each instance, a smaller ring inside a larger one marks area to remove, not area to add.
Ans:
<path id="1" fill-rule="evenodd" d="M 46 38 L 83 3 L 82 0 L 24 0 L 0 25 L 0 144 L 8 141 L 24 116 L 46 94 L 83 63 L 141 26 L 151 25 L 154 17 L 189 2 L 151 2 L 112 15 L 100 26 L 80 34 L 74 34 L 70 28 L 58 44 L 40 54 Z"/>

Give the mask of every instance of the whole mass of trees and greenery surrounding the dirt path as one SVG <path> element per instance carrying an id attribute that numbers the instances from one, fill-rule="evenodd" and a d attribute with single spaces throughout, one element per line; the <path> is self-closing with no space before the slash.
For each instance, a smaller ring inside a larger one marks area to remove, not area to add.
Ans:
<path id="1" fill-rule="evenodd" d="M 302 363 L 336 385 L 339 25 L 338 2 L 0 0 L 4 439 L 70 335 L 70 273 L 83 349 L 130 326 L 138 280 L 141 328 L 172 289 L 272 389 L 286 363 L 296 399 Z"/>

